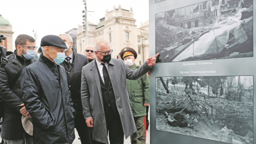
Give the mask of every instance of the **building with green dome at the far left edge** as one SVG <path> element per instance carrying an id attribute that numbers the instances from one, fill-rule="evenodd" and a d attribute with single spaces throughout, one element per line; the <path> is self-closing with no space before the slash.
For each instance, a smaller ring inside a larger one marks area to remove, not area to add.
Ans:
<path id="1" fill-rule="evenodd" d="M 6 51 L 13 51 L 12 46 L 12 26 L 10 25 L 10 22 L 3 18 L 2 15 L 0 15 L 0 35 L 6 36 L 5 40 L 2 40 L 2 43 L 0 43 L 0 46 L 6 47 Z"/>

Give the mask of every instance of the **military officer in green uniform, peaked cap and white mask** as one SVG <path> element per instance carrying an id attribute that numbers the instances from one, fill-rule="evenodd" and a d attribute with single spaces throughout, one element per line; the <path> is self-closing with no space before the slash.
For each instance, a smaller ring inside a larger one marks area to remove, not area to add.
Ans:
<path id="1" fill-rule="evenodd" d="M 126 47 L 122 49 L 120 57 L 124 60 L 124 63 L 131 69 L 136 70 L 139 68 L 134 61 L 137 58 L 137 52 L 130 48 Z M 126 81 L 126 86 L 129 94 L 129 102 L 132 109 L 132 114 L 134 117 L 135 125 L 137 131 L 132 134 L 131 144 L 145 144 L 146 135 L 145 135 L 145 115 L 146 106 L 149 105 L 149 78 L 145 74 L 138 80 L 128 80 Z"/>

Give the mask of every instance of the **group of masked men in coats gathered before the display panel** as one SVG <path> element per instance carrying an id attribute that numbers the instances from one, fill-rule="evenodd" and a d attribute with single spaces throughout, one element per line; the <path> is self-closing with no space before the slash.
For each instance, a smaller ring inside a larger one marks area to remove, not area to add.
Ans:
<path id="1" fill-rule="evenodd" d="M 19 35 L 16 50 L 0 68 L 4 101 L 1 138 L 7 144 L 71 144 L 74 128 L 82 144 L 145 144 L 149 75 L 155 55 L 140 67 L 126 47 L 111 59 L 107 41 L 72 49 L 66 33 L 35 39 Z M 16 57 L 15 57 L 16 56 Z"/>

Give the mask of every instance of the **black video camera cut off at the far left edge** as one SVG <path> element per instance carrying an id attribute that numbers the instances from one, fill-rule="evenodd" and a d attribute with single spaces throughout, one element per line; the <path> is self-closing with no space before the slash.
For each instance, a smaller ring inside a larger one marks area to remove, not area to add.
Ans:
<path id="1" fill-rule="evenodd" d="M 5 40 L 5 39 L 6 39 L 6 36 L 0 35 L 0 43 L 2 43 L 2 40 Z M 6 59 L 6 56 L 12 55 L 12 54 L 13 54 L 12 52 L 6 52 L 5 47 L 0 46 L 0 67 L 4 67 L 6 64 L 10 64 Z M 15 55 L 15 58 L 16 58 L 16 55 Z"/>

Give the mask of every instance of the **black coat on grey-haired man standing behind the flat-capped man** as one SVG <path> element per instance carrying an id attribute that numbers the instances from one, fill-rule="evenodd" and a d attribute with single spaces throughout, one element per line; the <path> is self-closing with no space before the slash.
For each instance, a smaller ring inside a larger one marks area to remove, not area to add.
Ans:
<path id="1" fill-rule="evenodd" d="M 65 68 L 64 61 L 61 65 Z M 67 83 L 71 92 L 73 107 L 78 115 L 83 115 L 83 107 L 81 102 L 81 75 L 82 67 L 88 64 L 88 59 L 85 55 L 78 54 L 73 51 L 73 61 L 69 69 L 66 70 Z"/>

